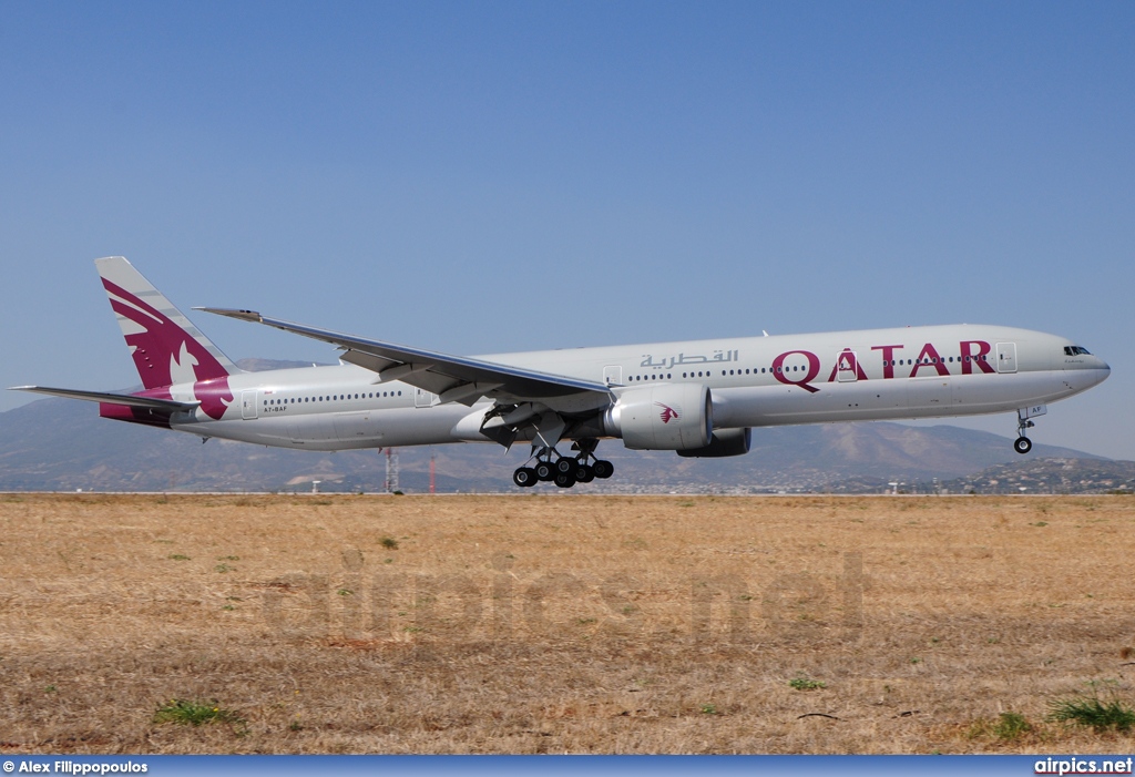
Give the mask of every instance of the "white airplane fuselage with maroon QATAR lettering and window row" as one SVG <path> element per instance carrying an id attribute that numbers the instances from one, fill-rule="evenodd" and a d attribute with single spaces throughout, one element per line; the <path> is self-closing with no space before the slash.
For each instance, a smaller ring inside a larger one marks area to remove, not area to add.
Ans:
<path id="1" fill-rule="evenodd" d="M 482 356 L 602 382 L 611 403 L 647 385 L 709 388 L 716 429 L 1012 412 L 1079 394 L 1108 365 L 1067 338 L 992 326 L 748 337 Z M 314 450 L 489 441 L 487 399 L 469 407 L 340 364 L 230 375 L 219 420 L 170 425 L 203 437 Z M 171 388 L 193 400 L 191 383 Z M 565 400 L 566 402 L 566 400 Z M 549 403 L 550 404 L 550 403 Z M 561 407 L 571 412 L 571 407 Z M 582 408 L 580 408 L 582 409 Z"/>

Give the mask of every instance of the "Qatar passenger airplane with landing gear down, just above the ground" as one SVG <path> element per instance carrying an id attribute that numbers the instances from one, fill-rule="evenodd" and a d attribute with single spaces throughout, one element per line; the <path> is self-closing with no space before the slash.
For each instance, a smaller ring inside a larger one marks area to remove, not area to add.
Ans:
<path id="1" fill-rule="evenodd" d="M 611 478 L 600 440 L 679 456 L 739 456 L 751 429 L 1017 414 L 1017 453 L 1048 404 L 1110 368 L 1057 335 L 997 326 L 905 327 L 453 356 L 249 310 L 194 310 L 339 351 L 330 366 L 244 372 L 121 256 L 95 260 L 143 389 L 15 390 L 99 403 L 106 419 L 309 450 L 447 442 L 531 445 L 518 487 Z M 557 446 L 570 444 L 571 453 Z"/>

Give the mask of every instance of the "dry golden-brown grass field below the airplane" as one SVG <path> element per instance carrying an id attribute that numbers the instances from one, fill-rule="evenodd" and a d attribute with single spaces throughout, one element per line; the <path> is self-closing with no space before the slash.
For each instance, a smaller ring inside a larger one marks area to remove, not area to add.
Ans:
<path id="1" fill-rule="evenodd" d="M 0 495 L 0 750 L 1132 752 L 1048 716 L 1135 704 L 1133 559 L 1130 497 Z"/>

